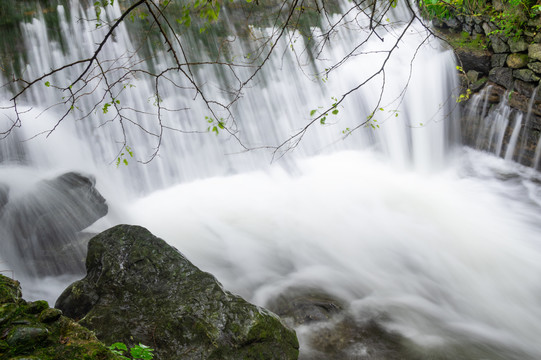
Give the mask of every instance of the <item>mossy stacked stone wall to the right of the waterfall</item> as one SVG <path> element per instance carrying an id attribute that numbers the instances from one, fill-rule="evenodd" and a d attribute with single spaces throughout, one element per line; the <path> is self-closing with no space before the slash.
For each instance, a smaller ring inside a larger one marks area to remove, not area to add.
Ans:
<path id="1" fill-rule="evenodd" d="M 472 122 L 480 121 L 482 109 L 472 108 L 471 99 L 482 91 L 489 107 L 505 102 L 515 111 L 527 115 L 521 125 L 513 160 L 523 165 L 540 167 L 535 163 L 536 148 L 541 134 L 541 19 L 539 16 L 523 22 L 515 34 L 504 34 L 488 15 L 457 15 L 450 19 L 435 20 L 434 27 L 453 47 L 461 68 L 462 91 L 471 90 L 470 100 L 463 102 L 462 140 L 465 145 L 482 147 L 483 142 L 471 129 Z M 518 34 L 518 35 L 517 35 Z M 509 121 L 509 127 L 514 124 Z M 505 153 L 511 129 L 505 130 Z M 489 150 L 489 149 L 484 149 Z"/>

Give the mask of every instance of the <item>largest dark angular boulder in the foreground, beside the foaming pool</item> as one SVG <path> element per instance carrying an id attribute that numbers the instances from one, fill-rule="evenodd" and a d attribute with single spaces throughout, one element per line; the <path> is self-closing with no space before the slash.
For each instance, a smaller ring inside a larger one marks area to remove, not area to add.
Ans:
<path id="1" fill-rule="evenodd" d="M 273 313 L 224 290 L 148 230 L 113 227 L 90 240 L 87 276 L 56 302 L 106 343 L 143 343 L 156 358 L 297 359 Z"/>

